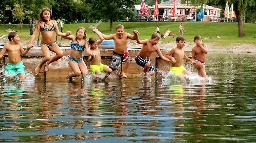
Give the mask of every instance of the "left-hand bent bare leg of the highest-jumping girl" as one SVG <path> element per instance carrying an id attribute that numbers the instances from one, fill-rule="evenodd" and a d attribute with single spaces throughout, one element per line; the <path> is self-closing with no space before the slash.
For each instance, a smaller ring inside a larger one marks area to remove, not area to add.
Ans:
<path id="1" fill-rule="evenodd" d="M 41 45 L 41 50 L 44 54 L 44 58 L 39 62 L 39 64 L 35 68 L 35 74 L 37 75 L 40 72 L 42 66 L 51 59 L 51 55 L 49 52 L 49 48 L 46 45 Z"/>

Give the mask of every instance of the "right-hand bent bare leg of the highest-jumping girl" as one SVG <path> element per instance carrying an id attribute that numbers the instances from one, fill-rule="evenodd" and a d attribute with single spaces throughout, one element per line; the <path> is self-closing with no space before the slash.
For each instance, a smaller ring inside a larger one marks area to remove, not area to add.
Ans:
<path id="1" fill-rule="evenodd" d="M 59 48 L 57 44 L 54 44 L 51 48 L 50 51 L 54 52 L 56 55 L 53 56 L 49 61 L 46 62 L 46 67 L 45 71 L 48 71 L 49 64 L 51 64 L 54 61 L 57 61 L 58 59 L 63 57 L 63 51 Z"/>

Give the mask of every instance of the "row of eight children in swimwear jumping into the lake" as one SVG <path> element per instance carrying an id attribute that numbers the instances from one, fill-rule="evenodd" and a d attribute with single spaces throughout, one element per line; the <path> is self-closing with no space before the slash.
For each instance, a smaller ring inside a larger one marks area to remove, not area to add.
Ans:
<path id="1" fill-rule="evenodd" d="M 44 54 L 44 58 L 35 68 L 35 74 L 38 74 L 40 72 L 40 69 L 43 67 L 44 64 L 44 70 L 47 72 L 49 64 L 57 61 L 63 56 L 63 51 L 58 46 L 58 44 L 55 43 L 55 31 L 58 36 L 71 40 L 70 54 L 68 55 L 68 58 L 69 65 L 73 72 L 69 73 L 69 78 L 88 74 L 87 66 L 83 61 L 83 51 L 86 51 L 88 53 L 90 69 L 93 73 L 96 74 L 96 79 L 100 77 L 102 72 L 106 72 L 105 77 L 103 77 L 103 79 L 105 79 L 114 70 L 118 70 L 121 61 L 125 62 L 122 70 L 122 76 L 127 78 L 125 72 L 127 71 L 128 66 L 132 60 L 127 50 L 128 39 L 136 40 L 137 43 L 143 44 L 140 52 L 135 58 L 135 61 L 138 65 L 144 67 L 144 74 L 150 74 L 151 76 L 155 74 L 154 67 L 152 66 L 149 57 L 152 52 L 156 51 L 161 59 L 172 63 L 170 71 L 174 72 L 177 77 L 183 79 L 184 74 L 190 75 L 190 72 L 186 71 L 186 69 L 182 65 L 183 59 L 186 59 L 191 61 L 194 67 L 198 69 L 199 76 L 206 78 L 205 60 L 207 54 L 207 46 L 205 43 L 202 42 L 201 36 L 195 36 L 194 42 L 196 43 L 196 46 L 192 48 L 192 59 L 189 59 L 184 54 L 185 39 L 182 36 L 177 37 L 177 46 L 171 51 L 167 52 L 165 55 L 163 55 L 160 51 L 160 48 L 157 46 L 157 43 L 160 40 L 159 33 L 153 33 L 151 35 L 151 39 L 140 40 L 138 36 L 138 31 L 133 31 L 133 35 L 131 35 L 125 32 L 123 25 L 117 25 L 116 33 L 110 35 L 104 35 L 100 31 L 98 31 L 97 28 L 94 28 L 93 31 L 98 35 L 100 40 L 97 41 L 95 38 L 91 37 L 87 41 L 85 28 L 79 27 L 76 30 L 75 35 L 71 35 L 70 31 L 62 33 L 58 30 L 57 22 L 55 20 L 51 20 L 51 16 L 52 13 L 50 9 L 43 8 L 41 10 L 37 26 L 26 50 L 23 49 L 22 44 L 19 42 L 20 39 L 17 33 L 11 32 L 8 34 L 8 39 L 10 43 L 4 45 L 2 51 L 0 52 L 0 58 L 2 58 L 4 53 L 7 51 L 9 62 L 5 67 L 5 70 L 8 72 L 8 75 L 18 74 L 19 78 L 25 79 L 25 66 L 21 61 L 20 52 L 23 55 L 26 55 L 28 53 L 28 51 L 34 46 L 32 43 L 35 40 L 35 36 L 38 31 L 40 31 L 42 35 L 40 46 Z M 113 49 L 112 63 L 109 66 L 101 63 L 101 55 L 98 49 L 98 45 L 101 44 L 104 39 L 113 39 L 115 43 L 115 47 Z M 56 55 L 51 57 L 50 51 L 54 52 Z"/>

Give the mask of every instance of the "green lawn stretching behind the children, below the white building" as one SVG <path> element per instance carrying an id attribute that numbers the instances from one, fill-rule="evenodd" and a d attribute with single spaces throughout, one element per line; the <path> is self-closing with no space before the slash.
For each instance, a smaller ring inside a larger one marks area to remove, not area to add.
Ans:
<path id="1" fill-rule="evenodd" d="M 97 37 L 96 34 L 93 33 L 92 29 L 89 29 L 91 25 L 95 23 L 81 23 L 81 24 L 64 24 L 63 32 L 71 31 L 73 34 L 76 29 L 80 26 L 85 27 L 87 29 L 86 33 L 89 37 Z M 115 33 L 115 28 L 117 24 L 123 24 L 125 26 L 125 31 L 132 34 L 133 30 L 139 31 L 140 39 L 149 39 L 151 34 L 156 31 L 157 25 L 160 26 L 160 32 L 165 32 L 168 28 L 172 32 L 177 33 L 180 22 L 114 22 L 113 30 L 109 31 L 110 23 L 99 23 L 98 29 L 104 34 Z M 19 31 L 17 25 L 1 25 L 0 26 L 0 35 L 7 35 L 8 32 L 3 32 L 11 27 L 13 30 L 18 31 L 21 41 L 30 39 L 30 29 L 28 25 L 23 25 L 21 31 Z M 184 22 L 183 27 L 186 32 L 184 32 L 184 37 L 186 41 L 193 41 L 195 35 L 201 35 L 203 38 L 208 37 L 225 37 L 221 39 L 204 39 L 205 42 L 215 42 L 220 45 L 229 45 L 232 43 L 248 43 L 248 44 L 256 44 L 256 38 L 253 38 L 254 34 L 256 34 L 256 24 L 254 23 L 245 23 L 245 34 L 246 37 L 238 38 L 238 24 L 237 23 L 216 23 L 216 22 Z M 175 41 L 172 37 L 167 37 L 165 39 L 161 39 L 162 42 L 172 42 Z"/>

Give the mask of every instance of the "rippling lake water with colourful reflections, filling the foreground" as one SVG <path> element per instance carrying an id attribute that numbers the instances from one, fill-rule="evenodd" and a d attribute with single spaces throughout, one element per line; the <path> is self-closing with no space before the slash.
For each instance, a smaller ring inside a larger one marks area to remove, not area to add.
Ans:
<path id="1" fill-rule="evenodd" d="M 0 142 L 254 142 L 255 55 L 207 60 L 211 82 L 0 77 Z"/>

